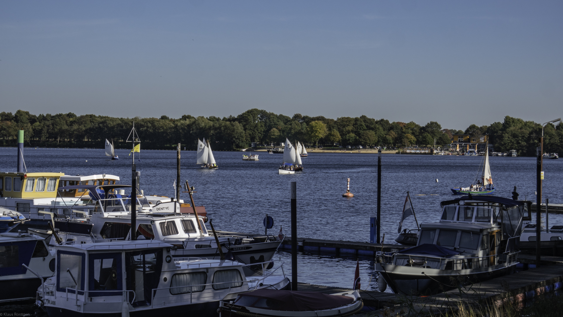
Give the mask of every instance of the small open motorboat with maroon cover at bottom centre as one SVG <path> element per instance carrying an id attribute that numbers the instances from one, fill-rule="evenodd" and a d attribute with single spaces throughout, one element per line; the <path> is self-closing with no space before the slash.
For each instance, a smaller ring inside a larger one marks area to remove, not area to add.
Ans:
<path id="1" fill-rule="evenodd" d="M 240 293 L 232 302 L 222 301 L 222 317 L 231 316 L 349 316 L 364 307 L 360 292 L 336 294 L 297 290 L 258 289 Z"/>

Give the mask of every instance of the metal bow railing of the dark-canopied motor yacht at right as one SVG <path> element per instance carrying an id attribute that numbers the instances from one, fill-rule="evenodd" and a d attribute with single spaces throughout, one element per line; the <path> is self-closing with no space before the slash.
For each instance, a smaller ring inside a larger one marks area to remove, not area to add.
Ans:
<path id="1" fill-rule="evenodd" d="M 484 268 L 495 265 L 501 265 L 505 263 L 516 262 L 516 256 L 519 252 L 511 253 L 499 253 L 492 254 L 489 256 L 482 257 L 467 257 L 467 258 L 443 258 L 443 257 L 432 257 L 432 256 L 419 256 L 410 254 L 395 253 L 393 255 L 381 254 L 377 257 L 378 263 L 383 264 L 393 264 L 394 255 L 400 255 L 404 257 L 397 258 L 396 260 L 405 260 L 404 263 L 401 261 L 400 266 L 410 266 L 410 267 L 423 267 L 423 268 L 436 268 L 439 270 L 466 270 L 473 268 Z M 416 261 L 416 260 L 423 260 Z M 397 261 L 395 261 L 397 263 Z"/>

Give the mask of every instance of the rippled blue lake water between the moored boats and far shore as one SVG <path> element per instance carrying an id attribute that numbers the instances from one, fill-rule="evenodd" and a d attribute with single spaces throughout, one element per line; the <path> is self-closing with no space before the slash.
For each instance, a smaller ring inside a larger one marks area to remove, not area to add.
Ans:
<path id="1" fill-rule="evenodd" d="M 112 174 L 131 184 L 131 157 L 118 149 L 120 160 L 110 160 L 103 149 L 25 148 L 29 172 L 63 172 L 68 175 Z M 279 175 L 281 154 L 258 153 L 259 161 L 243 161 L 248 152 L 213 152 L 217 170 L 200 169 L 195 151 L 181 152 L 181 179 L 195 187 L 196 205 L 204 205 L 219 230 L 263 232 L 265 214 L 274 218 L 277 234 L 290 233 L 290 182 L 297 182 L 298 236 L 328 240 L 369 241 L 369 218 L 377 212 L 377 155 L 362 153 L 310 153 L 303 158 L 303 173 Z M 16 148 L 0 148 L 0 171 L 16 170 Z M 145 194 L 174 195 L 176 151 L 142 150 L 136 153 L 137 170 Z M 381 230 L 394 243 L 406 192 L 410 192 L 418 222 L 435 221 L 440 201 L 453 197 L 451 187 L 467 187 L 481 173 L 481 156 L 395 155 L 382 156 Z M 563 202 L 563 160 L 544 160 L 543 198 Z M 534 157 L 490 157 L 495 195 L 511 197 L 517 187 L 520 199 L 535 201 Z M 346 199 L 346 178 L 355 197 Z M 436 182 L 438 179 L 438 182 Z M 189 200 L 187 194 L 180 198 Z M 563 224 L 561 215 L 549 223 Z M 403 228 L 414 228 L 409 217 Z M 291 256 L 279 252 L 291 274 Z M 362 288 L 377 287 L 373 259 L 359 258 Z M 300 253 L 300 281 L 312 284 L 352 286 L 356 258 Z M 371 282 L 369 283 L 371 279 Z"/>

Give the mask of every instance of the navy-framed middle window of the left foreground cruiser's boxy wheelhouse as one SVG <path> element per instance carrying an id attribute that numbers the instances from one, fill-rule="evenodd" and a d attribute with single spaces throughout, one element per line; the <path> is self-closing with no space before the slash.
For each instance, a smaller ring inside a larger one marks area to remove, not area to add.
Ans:
<path id="1" fill-rule="evenodd" d="M 89 290 L 122 290 L 121 253 L 91 253 L 88 257 Z M 121 292 L 92 292 L 88 296 L 118 296 Z"/>

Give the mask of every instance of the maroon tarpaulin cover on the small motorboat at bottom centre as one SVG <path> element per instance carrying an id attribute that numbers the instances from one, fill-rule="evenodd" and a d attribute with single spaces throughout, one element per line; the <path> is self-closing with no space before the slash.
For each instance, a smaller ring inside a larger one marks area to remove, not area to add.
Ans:
<path id="1" fill-rule="evenodd" d="M 256 297 L 256 300 L 249 297 Z M 258 289 L 240 294 L 234 304 L 280 311 L 315 311 L 346 306 L 353 301 L 354 299 L 348 296 L 329 295 L 319 292 Z"/>

